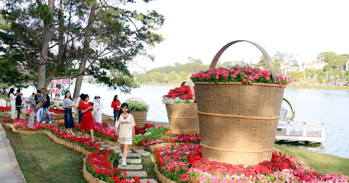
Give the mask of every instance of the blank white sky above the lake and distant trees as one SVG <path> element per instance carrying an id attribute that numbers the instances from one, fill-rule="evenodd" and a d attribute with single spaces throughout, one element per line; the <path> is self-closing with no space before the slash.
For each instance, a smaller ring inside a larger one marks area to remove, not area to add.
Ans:
<path id="1" fill-rule="evenodd" d="M 218 50 L 234 40 L 253 41 L 271 57 L 276 51 L 298 54 L 299 63 L 314 61 L 326 51 L 349 54 L 348 5 L 344 0 L 139 0 L 127 7 L 164 15 L 156 33 L 165 40 L 148 51 L 155 61 L 136 60 L 149 70 L 187 63 L 188 57 L 210 64 Z M 257 63 L 261 55 L 257 47 L 242 42 L 228 48 L 220 61 Z"/>

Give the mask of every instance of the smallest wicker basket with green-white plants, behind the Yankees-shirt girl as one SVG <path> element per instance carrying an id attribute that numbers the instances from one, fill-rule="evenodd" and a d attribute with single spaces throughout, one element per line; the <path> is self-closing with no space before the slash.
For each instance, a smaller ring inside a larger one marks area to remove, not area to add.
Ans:
<path id="1" fill-rule="evenodd" d="M 130 98 L 125 102 L 128 104 L 128 110 L 133 115 L 136 126 L 144 128 L 144 124 L 147 122 L 149 104 L 139 98 Z"/>

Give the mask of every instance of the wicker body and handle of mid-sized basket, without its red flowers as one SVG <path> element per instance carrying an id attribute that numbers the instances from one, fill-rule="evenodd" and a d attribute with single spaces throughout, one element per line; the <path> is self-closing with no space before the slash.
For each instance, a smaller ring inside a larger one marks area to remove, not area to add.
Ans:
<path id="1" fill-rule="evenodd" d="M 190 82 L 183 82 L 180 86 L 185 83 L 189 85 L 195 99 L 194 87 Z M 197 104 L 166 104 L 166 111 L 172 133 L 184 135 L 200 133 Z"/>

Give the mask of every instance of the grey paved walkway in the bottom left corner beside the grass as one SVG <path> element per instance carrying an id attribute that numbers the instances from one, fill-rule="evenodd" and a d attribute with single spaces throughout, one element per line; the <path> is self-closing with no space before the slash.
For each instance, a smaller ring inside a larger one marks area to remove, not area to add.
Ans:
<path id="1" fill-rule="evenodd" d="M 0 182 L 25 183 L 25 178 L 18 166 L 15 153 L 6 138 L 5 130 L 0 125 Z"/>

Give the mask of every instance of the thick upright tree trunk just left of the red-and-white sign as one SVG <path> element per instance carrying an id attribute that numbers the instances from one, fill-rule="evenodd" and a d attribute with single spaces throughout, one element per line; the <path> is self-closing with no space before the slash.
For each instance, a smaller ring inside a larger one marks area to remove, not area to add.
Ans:
<path id="1" fill-rule="evenodd" d="M 53 16 L 54 0 L 49 0 L 48 7 Z M 47 53 L 49 51 L 50 41 L 51 41 L 51 25 L 45 25 L 43 43 L 40 48 L 40 58 L 39 58 L 39 70 L 38 70 L 38 85 L 37 90 L 40 90 L 45 85 L 46 79 L 46 60 Z"/>

